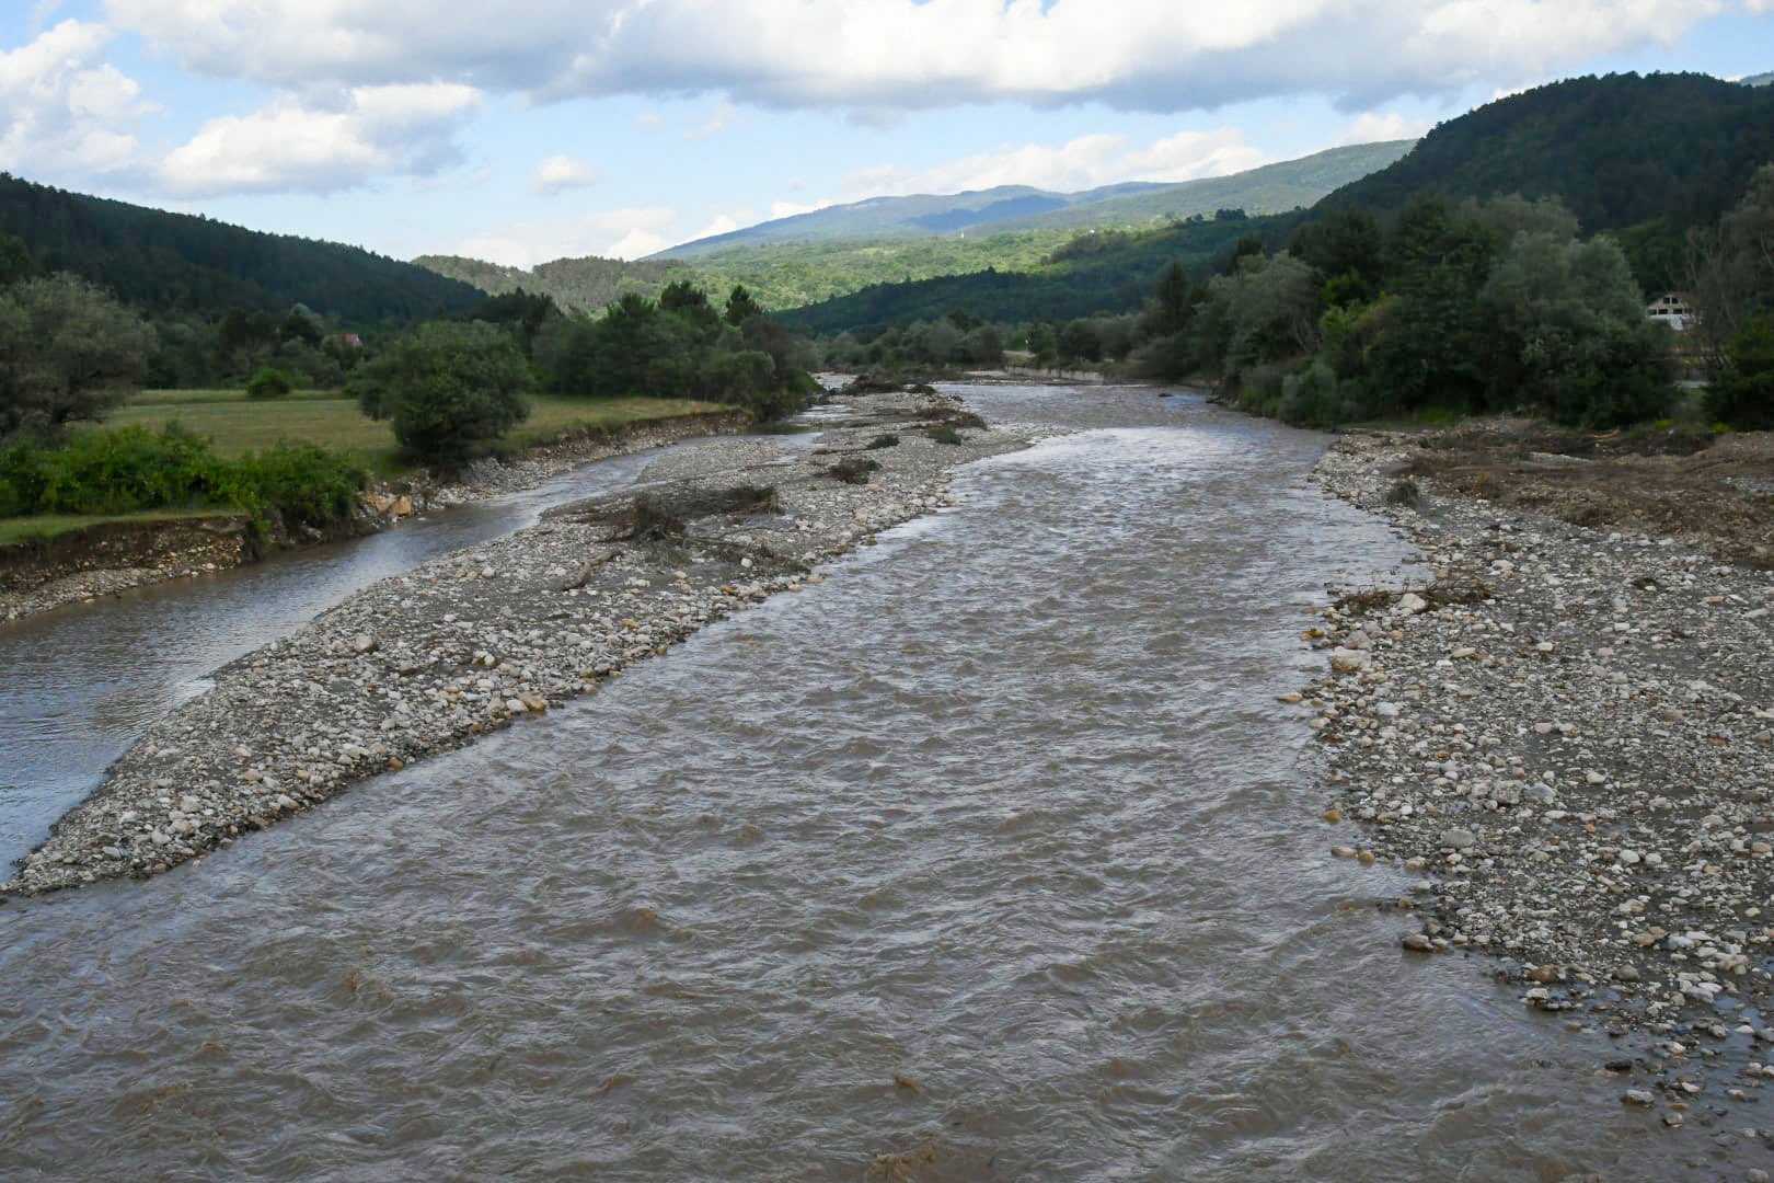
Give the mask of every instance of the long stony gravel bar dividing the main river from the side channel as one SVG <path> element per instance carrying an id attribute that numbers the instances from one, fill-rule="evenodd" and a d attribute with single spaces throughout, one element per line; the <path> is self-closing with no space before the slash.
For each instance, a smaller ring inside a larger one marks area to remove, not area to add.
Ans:
<path id="1" fill-rule="evenodd" d="M 949 474 L 1025 447 L 954 399 L 839 399 L 816 447 L 749 436 L 663 456 L 642 491 L 385 580 L 227 665 L 154 725 L 4 892 L 149 876 L 357 780 L 598 688 L 710 621 L 821 580 L 949 504 Z"/>

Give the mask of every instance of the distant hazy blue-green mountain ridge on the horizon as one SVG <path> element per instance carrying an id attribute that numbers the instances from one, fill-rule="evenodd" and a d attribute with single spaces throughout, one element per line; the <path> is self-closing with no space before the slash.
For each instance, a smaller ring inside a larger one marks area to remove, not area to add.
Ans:
<path id="1" fill-rule="evenodd" d="M 697 259 L 738 247 L 926 234 L 992 236 L 1009 231 L 1135 227 L 1215 209 L 1283 213 L 1311 206 L 1334 188 L 1391 165 L 1414 140 L 1352 144 L 1300 160 L 1247 168 L 1224 177 L 1158 183 L 1130 181 L 1077 193 L 1001 184 L 965 193 L 871 197 L 848 206 L 773 218 L 727 234 L 699 238 L 649 259 Z"/>

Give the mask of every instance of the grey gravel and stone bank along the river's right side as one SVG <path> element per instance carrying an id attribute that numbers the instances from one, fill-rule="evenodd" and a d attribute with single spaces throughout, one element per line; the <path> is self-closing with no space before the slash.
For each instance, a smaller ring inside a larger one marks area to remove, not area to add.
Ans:
<path id="1" fill-rule="evenodd" d="M 1423 560 L 1304 633 L 1329 672 L 1286 701 L 1323 741 L 1332 853 L 1414 876 L 1407 949 L 1485 951 L 1526 1006 L 1644 1032 L 1609 1064 L 1655 1075 L 1629 1103 L 1680 1124 L 1721 1071 L 1708 1096 L 1753 1100 L 1774 1080 L 1774 575 L 1412 481 L 1417 445 L 1345 436 L 1315 474 Z"/>

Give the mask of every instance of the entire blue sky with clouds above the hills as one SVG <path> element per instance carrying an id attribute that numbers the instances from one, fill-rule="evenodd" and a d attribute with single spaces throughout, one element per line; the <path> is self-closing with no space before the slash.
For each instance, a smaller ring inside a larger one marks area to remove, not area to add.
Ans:
<path id="1" fill-rule="evenodd" d="M 1774 0 L 0 0 L 0 168 L 529 266 L 1219 176 L 1625 69 L 1774 69 Z"/>

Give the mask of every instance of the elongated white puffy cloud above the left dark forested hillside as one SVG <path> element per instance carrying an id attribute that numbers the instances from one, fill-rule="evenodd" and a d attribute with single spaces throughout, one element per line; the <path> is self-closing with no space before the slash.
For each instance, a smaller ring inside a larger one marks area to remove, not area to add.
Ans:
<path id="1" fill-rule="evenodd" d="M 188 195 L 332 193 L 380 176 L 429 176 L 456 163 L 451 135 L 479 94 L 458 83 L 355 87 L 334 106 L 280 96 L 222 115 L 160 163 L 163 188 Z"/>

